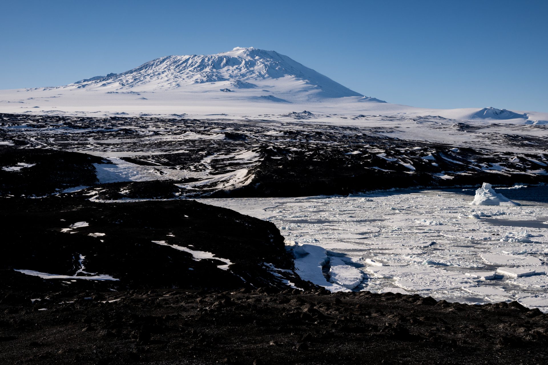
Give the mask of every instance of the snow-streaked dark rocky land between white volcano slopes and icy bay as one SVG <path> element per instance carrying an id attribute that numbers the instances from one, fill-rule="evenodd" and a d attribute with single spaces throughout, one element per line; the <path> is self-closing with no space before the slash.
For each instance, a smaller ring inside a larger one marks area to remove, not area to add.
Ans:
<path id="1" fill-rule="evenodd" d="M 298 119 L 315 117 L 310 112 L 290 115 Z M 398 119 L 400 117 L 391 118 L 395 122 L 402 121 Z M 538 132 L 548 131 L 548 127 L 513 125 L 495 133 L 482 131 L 478 125 L 452 123 L 443 118 L 441 124 L 437 118 L 432 118 L 417 117 L 413 121 L 436 130 L 437 134 L 440 130 L 450 134 L 476 134 L 473 136 L 475 142 L 461 143 L 457 148 L 445 143 L 404 140 L 391 136 L 392 132 L 402 136 L 399 126 L 381 128 L 374 123 L 344 126 L 307 120 L 221 121 L 16 114 L 0 114 L 3 123 L 0 140 L 12 143 L 15 147 L 10 150 L 17 148 L 21 156 L 27 153 L 22 151 L 31 148 L 92 150 L 94 154 L 105 153 L 105 156 L 119 153 L 118 158 L 134 164 L 135 170 L 146 170 L 145 175 L 150 180 L 164 180 L 164 183 L 152 185 L 143 181 L 108 185 L 104 187 L 101 199 L 154 199 L 178 196 L 179 193 L 187 197 L 309 196 L 390 188 L 477 186 L 484 181 L 494 185 L 548 182 L 545 172 L 548 137 Z M 530 128 L 535 130 L 530 131 Z M 510 134 L 511 130 L 516 130 L 516 134 Z M 521 152 L 516 153 L 516 150 Z M 43 151 L 35 149 L 35 154 L 45 154 Z M 19 160 L 14 160 L 17 162 Z M 82 163 L 78 161 L 76 166 L 84 166 Z M 38 171 L 33 170 L 37 166 L 20 172 L 5 172 L 0 178 L 18 178 Z M 85 166 L 88 166 L 89 174 L 93 173 L 93 166 L 89 163 Z M 150 168 L 143 170 L 143 166 Z M 71 173 L 80 176 L 78 169 L 83 167 L 75 168 Z M 49 174 L 45 176 L 46 182 L 50 179 L 58 181 L 58 185 L 70 186 L 63 171 L 64 167 L 59 167 L 39 173 Z M 125 171 L 119 181 L 127 180 L 127 173 Z M 74 179 L 72 186 L 94 186 L 93 176 L 89 174 L 88 179 Z M 139 173 L 136 175 L 139 180 L 145 179 Z M 116 180 L 116 174 L 113 176 Z M 29 184 L 26 178 L 19 181 Z M 109 181 L 113 181 L 112 176 Z M 184 189 L 169 188 L 168 184 L 178 184 Z M 16 183 L 10 182 L 8 186 L 16 186 Z M 61 186 L 53 184 L 48 190 L 32 185 L 21 191 L 26 195 L 42 195 Z M 16 190 L 16 193 L 21 192 Z"/>

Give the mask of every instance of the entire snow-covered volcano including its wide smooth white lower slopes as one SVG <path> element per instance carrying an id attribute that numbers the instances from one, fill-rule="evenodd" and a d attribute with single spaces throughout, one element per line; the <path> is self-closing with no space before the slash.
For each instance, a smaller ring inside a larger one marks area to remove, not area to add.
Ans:
<path id="1" fill-rule="evenodd" d="M 262 118 L 312 111 L 346 123 L 356 115 L 443 117 L 548 124 L 548 113 L 506 109 L 429 109 L 367 97 L 276 51 L 241 48 L 214 55 L 161 57 L 119 74 L 65 86 L 0 90 L 0 112 L 64 115 L 192 115 Z"/>

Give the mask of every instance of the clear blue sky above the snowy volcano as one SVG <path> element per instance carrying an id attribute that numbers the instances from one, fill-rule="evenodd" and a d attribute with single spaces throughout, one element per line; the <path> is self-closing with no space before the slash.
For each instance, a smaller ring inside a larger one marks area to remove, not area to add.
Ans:
<path id="1" fill-rule="evenodd" d="M 276 50 L 367 96 L 548 112 L 548 1 L 4 0 L 0 89 Z"/>

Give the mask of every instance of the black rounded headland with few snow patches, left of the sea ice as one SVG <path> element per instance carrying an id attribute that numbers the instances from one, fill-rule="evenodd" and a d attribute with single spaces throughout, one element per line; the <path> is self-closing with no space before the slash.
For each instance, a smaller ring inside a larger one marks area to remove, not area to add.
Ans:
<path id="1" fill-rule="evenodd" d="M 94 273 L 119 279 L 98 284 L 111 287 L 286 288 L 264 263 L 293 270 L 274 224 L 193 200 L 8 198 L 0 219 L 9 227 L 0 268 L 75 275 L 65 281 Z"/>

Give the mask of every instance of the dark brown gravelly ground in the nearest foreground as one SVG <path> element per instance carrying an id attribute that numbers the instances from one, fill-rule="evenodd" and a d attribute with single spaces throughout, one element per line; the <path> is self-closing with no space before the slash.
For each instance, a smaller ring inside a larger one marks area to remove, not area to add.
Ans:
<path id="1" fill-rule="evenodd" d="M 531 364 L 547 355 L 548 316 L 516 302 L 323 289 L 100 291 L 84 281 L 68 291 L 1 275 L 5 364 Z"/>

